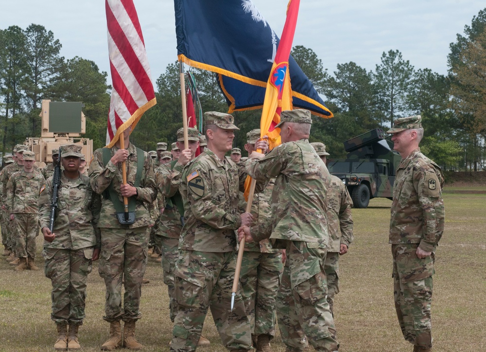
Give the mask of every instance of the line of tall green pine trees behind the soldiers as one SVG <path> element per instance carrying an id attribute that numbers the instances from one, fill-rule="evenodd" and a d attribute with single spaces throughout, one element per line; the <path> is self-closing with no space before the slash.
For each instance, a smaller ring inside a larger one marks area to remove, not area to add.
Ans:
<path id="1" fill-rule="evenodd" d="M 52 31 L 31 24 L 0 30 L 0 151 L 9 152 L 26 137 L 40 136 L 42 99 L 81 101 L 87 116 L 85 137 L 104 146 L 110 90 L 106 72 L 90 60 L 60 56 Z M 346 156 L 343 142 L 368 130 L 387 129 L 393 120 L 421 114 L 422 151 L 446 170 L 484 170 L 486 134 L 486 8 L 450 44 L 449 72 L 418 68 L 399 50 L 383 52 L 374 70 L 355 62 L 338 64 L 330 74 L 311 48 L 295 46 L 292 55 L 334 113 L 313 119 L 311 142 L 324 142 L 331 158 Z M 216 75 L 191 68 L 203 111 L 227 111 Z M 175 61 L 156 79 L 157 105 L 132 132 L 140 148 L 172 143 L 182 126 L 179 67 Z M 260 110 L 234 112 L 241 132 L 259 128 Z"/>

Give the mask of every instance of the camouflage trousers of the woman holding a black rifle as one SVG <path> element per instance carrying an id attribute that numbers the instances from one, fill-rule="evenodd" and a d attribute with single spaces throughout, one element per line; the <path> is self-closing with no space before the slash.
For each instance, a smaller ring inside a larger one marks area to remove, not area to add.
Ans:
<path id="1" fill-rule="evenodd" d="M 93 269 L 93 247 L 72 250 L 44 248 L 44 274 L 52 282 L 51 319 L 56 324 L 82 325 L 85 318 L 86 281 Z"/>

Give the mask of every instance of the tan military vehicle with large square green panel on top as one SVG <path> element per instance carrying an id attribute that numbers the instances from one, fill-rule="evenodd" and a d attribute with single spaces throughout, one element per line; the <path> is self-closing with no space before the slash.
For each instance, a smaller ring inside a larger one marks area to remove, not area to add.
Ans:
<path id="1" fill-rule="evenodd" d="M 82 146 L 87 167 L 93 155 L 93 141 L 83 138 L 86 133 L 86 116 L 81 102 L 55 102 L 42 100 L 39 114 L 42 122 L 40 138 L 29 137 L 24 144 L 35 153 L 35 165 L 45 167 L 52 163 L 52 149 L 65 144 Z"/>

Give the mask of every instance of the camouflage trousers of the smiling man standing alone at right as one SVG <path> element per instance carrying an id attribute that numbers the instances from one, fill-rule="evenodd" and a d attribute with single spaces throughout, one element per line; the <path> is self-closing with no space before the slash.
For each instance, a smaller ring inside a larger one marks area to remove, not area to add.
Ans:
<path id="1" fill-rule="evenodd" d="M 405 340 L 420 348 L 432 348 L 432 275 L 435 253 L 418 259 L 418 243 L 393 244 L 393 295 Z"/>

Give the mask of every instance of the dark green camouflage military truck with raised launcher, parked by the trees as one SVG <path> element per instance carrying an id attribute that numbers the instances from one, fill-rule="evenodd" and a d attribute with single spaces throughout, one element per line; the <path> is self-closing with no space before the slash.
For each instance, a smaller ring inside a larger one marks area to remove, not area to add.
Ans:
<path id="1" fill-rule="evenodd" d="M 344 142 L 347 159 L 329 159 L 328 169 L 346 185 L 355 208 L 371 198 L 392 199 L 400 154 L 382 129 L 370 130 Z"/>

